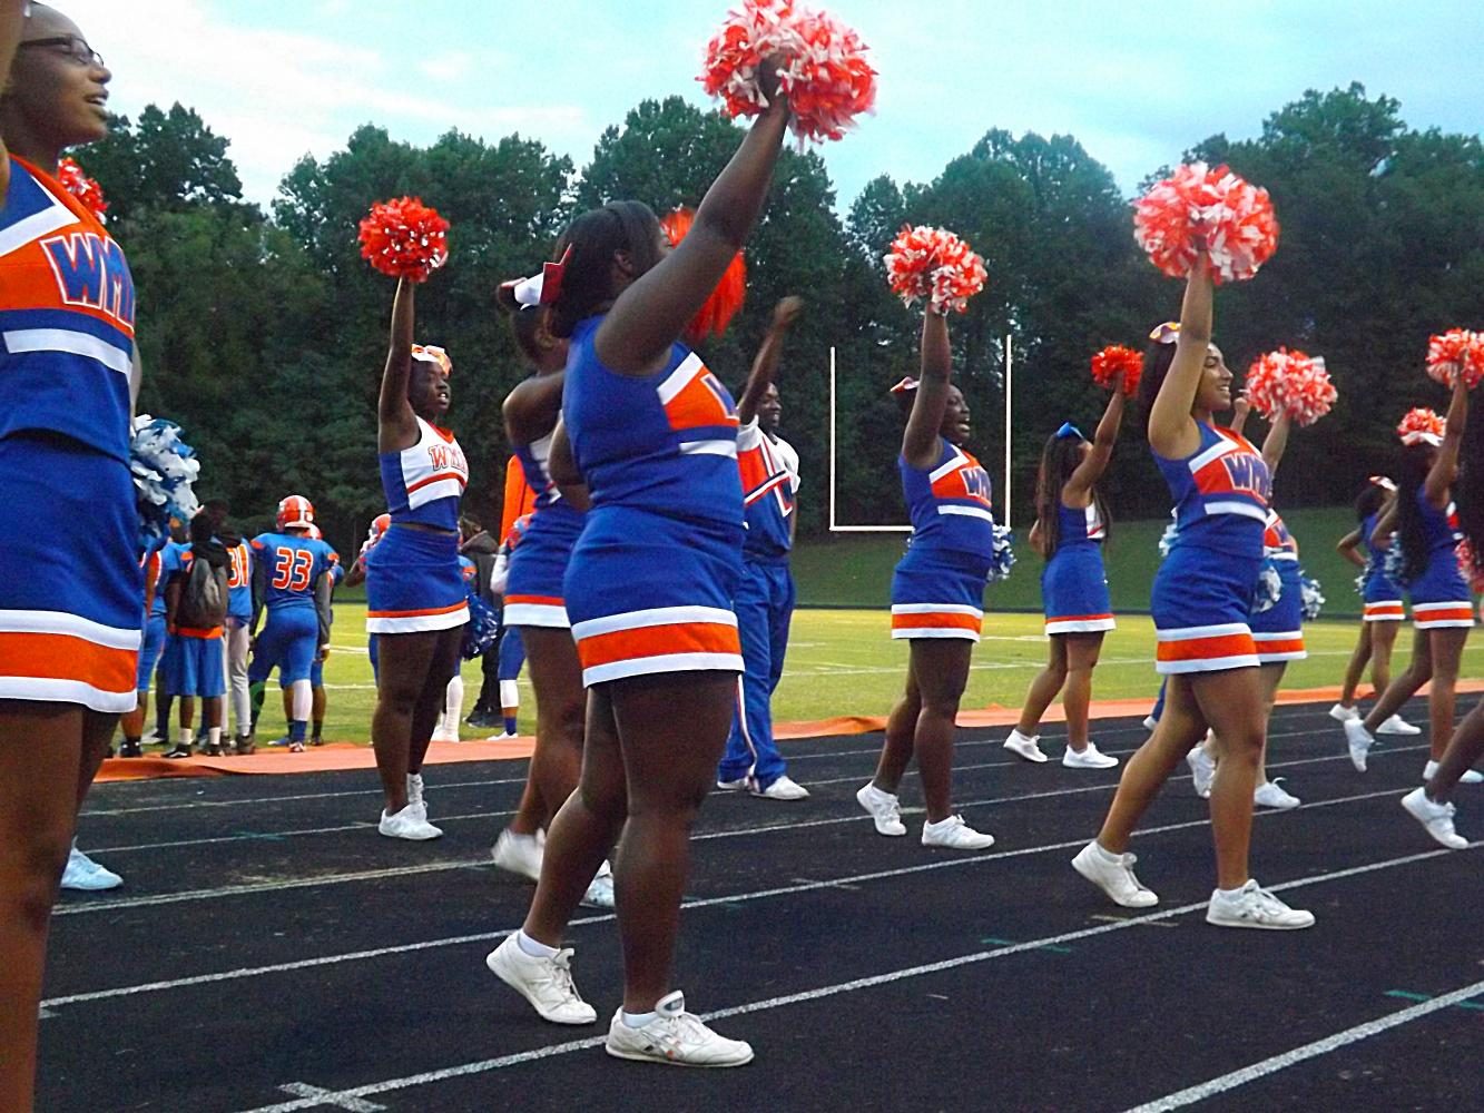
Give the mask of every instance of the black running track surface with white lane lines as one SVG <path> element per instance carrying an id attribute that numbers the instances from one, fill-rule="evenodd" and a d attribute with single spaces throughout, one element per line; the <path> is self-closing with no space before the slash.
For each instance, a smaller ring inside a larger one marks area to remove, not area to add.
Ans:
<path id="1" fill-rule="evenodd" d="M 706 803 L 677 984 L 702 1014 L 754 1006 L 715 1021 L 757 1051 L 730 1071 L 603 1052 L 610 916 L 583 910 L 570 933 L 594 1027 L 543 1024 L 485 969 L 530 898 L 488 861 L 524 763 L 430 767 L 433 843 L 377 835 L 370 773 L 99 785 L 80 844 L 125 887 L 58 908 L 39 1107 L 1122 1110 L 1484 981 L 1481 843 L 1441 850 L 1396 803 L 1422 738 L 1383 739 L 1362 776 L 1324 708 L 1278 712 L 1272 772 L 1304 806 L 1258 815 L 1252 870 L 1318 916 L 1288 933 L 1205 923 L 1211 840 L 1189 776 L 1134 846 L 1158 916 L 1109 904 L 1068 859 L 1119 770 L 1031 766 L 1003 733 L 962 732 L 957 751 L 957 803 L 999 840 L 987 853 L 923 849 L 916 810 L 907 838 L 873 831 L 853 792 L 879 735 L 789 743 L 807 801 Z M 1097 730 L 1120 757 L 1143 738 Z M 1460 792 L 1460 830 L 1484 833 L 1484 787 Z M 920 803 L 916 779 L 902 798 Z M 1025 942 L 1045 945 L 1011 950 Z M 1202 1104 L 1480 1109 L 1481 1061 L 1484 996 Z"/>

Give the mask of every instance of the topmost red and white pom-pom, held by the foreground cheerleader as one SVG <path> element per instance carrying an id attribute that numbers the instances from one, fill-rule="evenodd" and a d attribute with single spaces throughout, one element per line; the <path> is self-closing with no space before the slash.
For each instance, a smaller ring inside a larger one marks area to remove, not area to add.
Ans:
<path id="1" fill-rule="evenodd" d="M 840 139 L 876 104 L 867 49 L 861 36 L 825 12 L 792 0 L 743 0 L 706 45 L 696 80 L 721 98 L 727 116 L 757 116 L 767 107 L 758 67 L 773 56 L 800 142 Z"/>

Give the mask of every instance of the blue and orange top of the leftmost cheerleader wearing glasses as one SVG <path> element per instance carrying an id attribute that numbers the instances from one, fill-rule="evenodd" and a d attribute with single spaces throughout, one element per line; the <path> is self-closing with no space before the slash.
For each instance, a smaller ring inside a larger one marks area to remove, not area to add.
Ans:
<path id="1" fill-rule="evenodd" d="M 128 462 L 134 278 L 56 178 L 10 157 L 0 203 L 0 438 L 42 430 Z"/>

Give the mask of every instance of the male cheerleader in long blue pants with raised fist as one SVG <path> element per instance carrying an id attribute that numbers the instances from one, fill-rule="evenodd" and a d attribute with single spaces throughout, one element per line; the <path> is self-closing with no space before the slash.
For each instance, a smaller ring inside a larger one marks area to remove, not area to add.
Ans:
<path id="1" fill-rule="evenodd" d="M 773 307 L 773 324 L 752 361 L 738 401 L 738 467 L 742 470 L 742 583 L 733 598 L 742 660 L 746 671 L 738 689 L 727 751 L 717 767 L 717 788 L 751 792 L 764 800 L 804 800 L 809 789 L 787 773 L 773 741 L 770 703 L 784 677 L 788 623 L 794 616 L 794 577 L 788 554 L 794 548 L 798 515 L 798 453 L 778 435 L 784 405 L 773 377 L 789 326 L 804 300 L 787 297 Z"/>

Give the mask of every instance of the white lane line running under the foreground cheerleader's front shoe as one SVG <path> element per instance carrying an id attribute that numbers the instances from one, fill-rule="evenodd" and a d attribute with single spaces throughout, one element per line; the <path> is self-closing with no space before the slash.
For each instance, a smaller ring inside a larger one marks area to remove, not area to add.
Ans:
<path id="1" fill-rule="evenodd" d="M 1472 843 L 1469 849 L 1484 846 L 1484 843 Z M 1303 889 L 1312 884 L 1322 884 L 1327 881 L 1339 881 L 1347 877 L 1358 877 L 1361 874 L 1376 873 L 1379 870 L 1391 870 L 1399 865 L 1411 865 L 1414 862 L 1426 862 L 1434 858 L 1441 858 L 1450 853 L 1460 853 L 1459 850 L 1428 850 L 1416 855 L 1405 855 L 1402 858 L 1389 858 L 1380 862 L 1368 862 L 1367 865 L 1350 867 L 1349 870 L 1336 870 L 1328 874 L 1316 874 L 1313 877 L 1304 877 L 1294 881 L 1285 881 L 1281 886 L 1270 886 L 1273 890 L 1278 889 Z M 1140 925 L 1153 923 L 1158 920 L 1171 920 L 1177 916 L 1187 916 L 1195 911 L 1201 911 L 1206 907 L 1206 901 L 1199 901 L 1198 904 L 1181 905 L 1180 908 L 1165 908 L 1158 913 L 1149 913 L 1146 916 L 1131 916 L 1126 920 L 1119 920 L 1117 923 L 1103 923 L 1097 928 L 1082 928 L 1074 932 L 1063 932 L 1061 935 L 1049 935 L 1045 939 L 1031 939 L 1028 942 L 1017 942 L 1006 947 L 996 947 L 988 951 L 975 951 L 974 954 L 962 954 L 956 959 L 944 959 L 941 962 L 930 962 L 922 966 L 908 966 L 901 971 L 889 971 L 886 974 L 876 974 L 868 978 L 855 978 L 852 981 L 837 982 L 834 985 L 821 985 L 815 990 L 804 990 L 801 993 L 788 993 L 779 997 L 769 997 L 766 1000 L 748 1002 L 745 1005 L 733 1005 L 732 1008 L 717 1009 L 714 1012 L 702 1014 L 702 1020 L 715 1021 L 726 1020 L 727 1017 L 745 1017 L 754 1012 L 770 1012 L 773 1009 L 787 1008 L 789 1005 L 801 1005 L 806 1002 L 821 1000 L 824 997 L 837 997 L 844 993 L 859 993 L 861 990 L 871 990 L 879 985 L 890 985 L 893 982 L 905 981 L 908 978 L 920 978 L 929 974 L 941 974 L 944 971 L 953 971 L 963 966 L 975 966 L 978 963 L 991 962 L 994 959 L 1003 959 L 1011 954 L 1020 954 L 1022 951 L 1040 950 L 1043 947 L 1057 947 L 1068 942 L 1076 942 L 1077 939 L 1089 939 L 1097 935 L 1107 935 L 1110 932 L 1120 932 L 1128 928 L 1137 928 Z M 1432 1002 L 1428 1002 L 1432 1005 Z M 582 1040 L 568 1040 L 565 1043 L 554 1043 L 545 1048 L 533 1048 L 531 1051 L 516 1052 L 513 1055 L 502 1055 L 493 1060 L 479 1060 L 476 1063 L 463 1063 L 456 1067 L 444 1067 L 442 1070 L 429 1070 L 420 1074 L 410 1074 L 401 1079 L 387 1079 L 384 1082 L 372 1082 L 364 1086 L 349 1086 L 338 1089 L 337 1094 L 344 1094 L 352 1098 L 370 1098 L 378 1094 L 389 1094 L 398 1089 L 410 1089 L 413 1086 L 426 1086 L 435 1082 L 445 1082 L 456 1077 L 467 1077 L 469 1074 L 484 1074 L 491 1070 L 502 1070 L 505 1067 L 518 1067 L 525 1063 L 534 1063 L 537 1060 L 552 1058 L 555 1055 L 567 1055 L 574 1051 L 586 1051 L 589 1048 L 598 1048 L 603 1045 L 605 1037 L 592 1036 Z M 304 1098 L 301 1101 L 285 1101 L 278 1106 L 260 1106 L 257 1109 L 248 1110 L 246 1113 L 292 1113 L 300 1109 L 313 1109 L 315 1101 Z"/>

